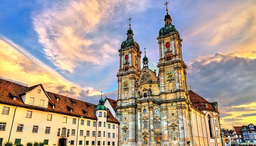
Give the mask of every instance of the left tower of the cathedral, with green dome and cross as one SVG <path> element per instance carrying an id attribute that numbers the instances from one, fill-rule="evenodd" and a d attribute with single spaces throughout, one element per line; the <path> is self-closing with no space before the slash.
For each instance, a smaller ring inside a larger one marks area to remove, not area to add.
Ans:
<path id="1" fill-rule="evenodd" d="M 140 51 L 133 39 L 131 18 L 128 19 L 127 39 L 122 42 L 119 52 L 117 119 L 120 122 L 118 145 L 136 145 L 135 141 L 135 81 L 140 74 Z"/>

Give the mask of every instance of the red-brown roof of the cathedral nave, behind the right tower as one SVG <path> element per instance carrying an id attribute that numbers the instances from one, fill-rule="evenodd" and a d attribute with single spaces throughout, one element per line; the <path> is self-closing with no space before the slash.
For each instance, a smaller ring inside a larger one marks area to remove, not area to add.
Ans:
<path id="1" fill-rule="evenodd" d="M 189 99 L 192 102 L 193 107 L 195 107 L 199 110 L 216 111 L 211 103 L 209 103 L 207 100 L 205 100 L 203 97 L 199 96 L 195 92 L 189 90 L 188 94 L 189 94 Z"/>

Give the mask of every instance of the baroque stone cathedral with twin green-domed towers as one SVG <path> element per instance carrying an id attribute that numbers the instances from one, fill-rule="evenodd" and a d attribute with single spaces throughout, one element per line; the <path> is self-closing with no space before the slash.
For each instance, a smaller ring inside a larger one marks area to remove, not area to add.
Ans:
<path id="1" fill-rule="evenodd" d="M 157 37 L 158 74 L 148 67 L 146 51 L 141 65 L 131 18 L 127 40 L 118 50 L 118 146 L 220 146 L 217 102 L 188 90 L 182 39 L 165 5 L 165 25 Z"/>

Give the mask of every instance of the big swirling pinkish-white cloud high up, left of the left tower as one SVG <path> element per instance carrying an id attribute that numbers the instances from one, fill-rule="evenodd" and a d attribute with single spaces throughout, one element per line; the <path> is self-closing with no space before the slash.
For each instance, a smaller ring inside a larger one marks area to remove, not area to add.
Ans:
<path id="1" fill-rule="evenodd" d="M 60 70 L 73 73 L 76 67 L 100 68 L 118 60 L 118 36 L 110 26 L 116 15 L 145 9 L 145 1 L 80 0 L 55 3 L 33 18 L 45 56 Z M 118 9 L 116 9 L 118 7 Z M 135 9 L 140 8 L 140 9 Z M 122 10 L 122 12 L 121 12 Z M 105 28 L 101 27 L 104 26 Z"/>

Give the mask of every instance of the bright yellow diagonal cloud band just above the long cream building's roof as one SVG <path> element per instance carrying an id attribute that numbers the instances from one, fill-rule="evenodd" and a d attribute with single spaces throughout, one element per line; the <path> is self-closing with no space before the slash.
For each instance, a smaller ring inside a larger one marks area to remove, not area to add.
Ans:
<path id="1" fill-rule="evenodd" d="M 0 54 L 0 66 L 2 66 L 0 76 L 4 80 L 27 87 L 42 83 L 46 91 L 91 101 L 94 104 L 98 102 L 99 92 L 97 90 L 91 87 L 80 87 L 68 81 L 25 49 L 3 36 L 0 37 Z"/>

